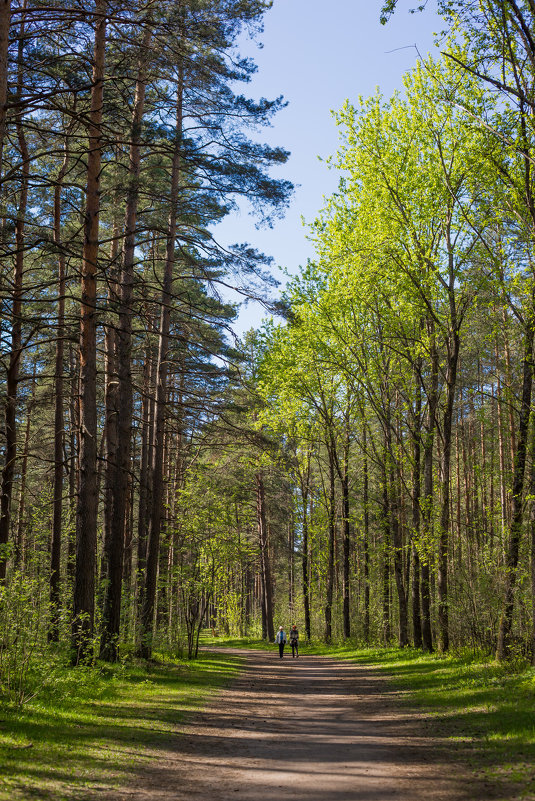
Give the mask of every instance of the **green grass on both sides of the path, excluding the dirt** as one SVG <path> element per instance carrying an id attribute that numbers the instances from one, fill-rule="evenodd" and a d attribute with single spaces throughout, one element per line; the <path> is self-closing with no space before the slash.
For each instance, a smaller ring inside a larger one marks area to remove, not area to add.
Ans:
<path id="1" fill-rule="evenodd" d="M 205 644 L 274 651 L 253 639 Z M 535 670 L 472 653 L 359 649 L 302 643 L 301 653 L 350 659 L 384 675 L 399 703 L 416 710 L 448 757 L 468 762 L 507 798 L 535 798 Z M 195 662 L 63 668 L 22 709 L 0 706 L 0 801 L 87 801 L 124 786 L 155 762 L 188 712 L 236 673 L 224 649 Z"/>

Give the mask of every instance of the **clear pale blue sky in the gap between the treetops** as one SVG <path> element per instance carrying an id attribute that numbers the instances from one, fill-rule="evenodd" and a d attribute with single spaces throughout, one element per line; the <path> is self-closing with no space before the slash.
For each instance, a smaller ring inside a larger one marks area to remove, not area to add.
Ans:
<path id="1" fill-rule="evenodd" d="M 377 86 L 390 95 L 402 89 L 403 73 L 417 50 L 433 50 L 433 34 L 441 30 L 435 0 L 422 13 L 410 9 L 420 0 L 399 0 L 390 22 L 379 23 L 381 0 L 274 0 L 265 16 L 262 49 L 245 40 L 242 55 L 258 64 L 254 80 L 240 89 L 251 97 L 284 95 L 288 106 L 264 129 L 262 141 L 291 151 L 288 163 L 272 174 L 297 184 L 290 208 L 272 229 L 257 230 L 247 209 L 218 225 L 222 244 L 250 242 L 271 255 L 275 265 L 296 272 L 313 257 L 301 218 L 312 221 L 337 186 L 335 171 L 325 161 L 338 147 L 331 110 L 349 98 L 356 102 Z M 282 278 L 277 267 L 274 274 Z M 260 324 L 261 307 L 250 304 L 235 326 L 238 334 Z"/>

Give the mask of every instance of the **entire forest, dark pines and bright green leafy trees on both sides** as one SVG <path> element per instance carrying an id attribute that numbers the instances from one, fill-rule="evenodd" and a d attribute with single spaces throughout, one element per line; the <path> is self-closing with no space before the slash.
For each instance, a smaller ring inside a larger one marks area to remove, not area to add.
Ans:
<path id="1" fill-rule="evenodd" d="M 291 202 L 241 93 L 270 6 L 0 2 L 2 696 L 280 622 L 535 664 L 535 7 L 439 2 L 337 112 L 279 293 L 215 233 Z"/>

